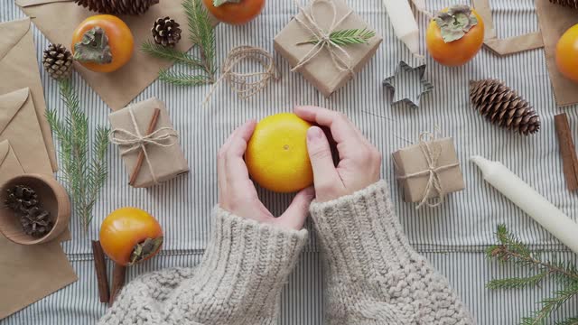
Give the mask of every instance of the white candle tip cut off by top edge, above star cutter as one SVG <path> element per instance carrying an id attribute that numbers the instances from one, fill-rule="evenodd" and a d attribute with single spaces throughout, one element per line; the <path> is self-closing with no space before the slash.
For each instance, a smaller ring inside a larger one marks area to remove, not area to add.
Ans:
<path id="1" fill-rule="evenodd" d="M 394 26 L 397 38 L 406 43 L 409 51 L 418 54 L 419 29 L 408 0 L 383 0 L 383 3 L 386 5 L 387 15 Z"/>

